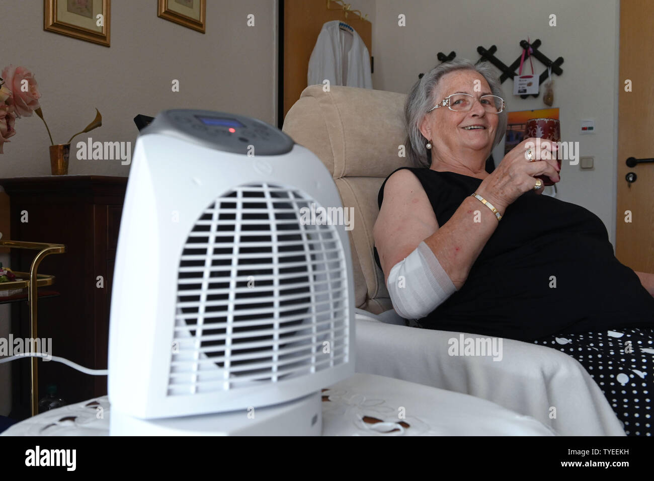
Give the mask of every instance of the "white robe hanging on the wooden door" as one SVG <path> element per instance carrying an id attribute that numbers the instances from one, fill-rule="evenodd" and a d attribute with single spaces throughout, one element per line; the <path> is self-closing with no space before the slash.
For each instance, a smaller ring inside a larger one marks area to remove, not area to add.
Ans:
<path id="1" fill-rule="evenodd" d="M 332 20 L 320 29 L 309 58 L 308 85 L 328 79 L 332 85 L 372 88 L 368 48 L 356 30 L 350 33 L 338 24 Z"/>

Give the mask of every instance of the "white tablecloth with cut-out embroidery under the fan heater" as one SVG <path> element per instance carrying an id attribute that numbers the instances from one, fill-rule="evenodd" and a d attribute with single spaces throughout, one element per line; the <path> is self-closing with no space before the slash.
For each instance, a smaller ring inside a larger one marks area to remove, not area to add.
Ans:
<path id="1" fill-rule="evenodd" d="M 436 387 L 354 374 L 322 392 L 323 436 L 553 436 L 540 421 Z M 3 436 L 107 436 L 107 396 L 44 412 Z"/>

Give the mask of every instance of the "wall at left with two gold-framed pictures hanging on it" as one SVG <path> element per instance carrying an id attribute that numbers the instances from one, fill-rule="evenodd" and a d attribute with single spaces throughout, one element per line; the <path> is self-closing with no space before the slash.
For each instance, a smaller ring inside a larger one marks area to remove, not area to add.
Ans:
<path id="1" fill-rule="evenodd" d="M 254 14 L 255 25 L 246 25 Z M 202 34 L 157 17 L 157 2 L 111 2 L 111 47 L 43 30 L 43 2 L 0 2 L 0 69 L 24 65 L 41 90 L 41 107 L 55 143 L 93 120 L 103 126 L 76 137 L 133 141 L 132 118 L 162 109 L 227 111 L 276 124 L 276 0 L 209 0 Z M 180 91 L 171 91 L 171 81 Z M 48 134 L 37 116 L 16 121 L 0 155 L 0 178 L 50 175 Z M 75 143 L 73 141 L 73 143 Z M 74 146 L 73 146 L 74 147 Z M 122 175 L 120 160 L 77 160 L 70 174 Z"/>

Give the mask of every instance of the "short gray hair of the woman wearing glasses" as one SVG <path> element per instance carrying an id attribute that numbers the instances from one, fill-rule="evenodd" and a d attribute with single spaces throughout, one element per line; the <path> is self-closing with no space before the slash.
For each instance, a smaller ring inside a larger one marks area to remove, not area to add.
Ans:
<path id="1" fill-rule="evenodd" d="M 477 63 L 473 65 L 470 60 L 452 60 L 451 62 L 443 62 L 431 69 L 428 73 L 422 76 L 422 79 L 415 82 L 406 104 L 404 105 L 404 117 L 407 126 L 407 139 L 405 144 L 407 146 L 407 154 L 409 160 L 417 167 L 429 168 L 432 164 L 430 155 L 427 153 L 426 139 L 420 132 L 420 124 L 427 111 L 436 105 L 439 99 L 434 99 L 434 92 L 438 82 L 446 73 L 456 70 L 474 70 L 477 71 L 489 83 L 490 92 L 493 95 L 504 98 L 504 92 L 498 75 L 492 69 L 491 65 L 487 62 Z M 502 137 L 506 133 L 506 110 L 498 114 L 497 132 L 495 133 L 495 140 L 492 147 L 496 147 L 502 141 Z"/>

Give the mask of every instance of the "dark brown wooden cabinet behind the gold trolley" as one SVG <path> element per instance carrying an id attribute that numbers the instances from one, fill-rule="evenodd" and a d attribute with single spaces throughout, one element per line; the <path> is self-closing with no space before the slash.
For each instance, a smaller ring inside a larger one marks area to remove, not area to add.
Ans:
<path id="1" fill-rule="evenodd" d="M 107 368 L 111 283 L 127 177 L 61 175 L 0 179 L 9 194 L 11 240 L 65 244 L 39 272 L 56 276 L 61 295 L 39 302 L 39 338 L 52 338 L 52 355 L 94 369 Z M 30 255 L 12 249 L 9 267 L 29 270 Z M 18 252 L 16 252 L 18 251 Z M 14 338 L 29 337 L 27 303 L 12 305 Z M 29 361 L 12 363 L 13 418 L 29 416 Z M 82 374 L 39 361 L 39 397 L 55 384 L 69 404 L 107 394 L 107 376 Z"/>

